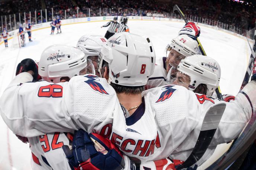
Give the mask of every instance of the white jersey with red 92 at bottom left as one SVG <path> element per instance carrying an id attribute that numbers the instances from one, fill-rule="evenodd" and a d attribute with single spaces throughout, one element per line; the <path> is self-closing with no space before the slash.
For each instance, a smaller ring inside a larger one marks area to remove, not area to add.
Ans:
<path id="1" fill-rule="evenodd" d="M 32 152 L 31 166 L 33 170 L 71 170 L 62 150 L 63 145 L 71 145 L 71 133 L 55 132 L 29 137 Z"/>

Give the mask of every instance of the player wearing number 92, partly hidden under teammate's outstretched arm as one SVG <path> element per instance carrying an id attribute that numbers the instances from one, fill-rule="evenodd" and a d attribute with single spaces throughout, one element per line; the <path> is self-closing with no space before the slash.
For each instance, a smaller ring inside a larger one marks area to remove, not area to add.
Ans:
<path id="1" fill-rule="evenodd" d="M 45 81 L 66 82 L 75 75 L 84 75 L 95 70 L 87 56 L 74 47 L 53 45 L 47 50 L 44 54 L 48 55 L 42 55 L 39 62 L 39 75 Z M 58 53 L 50 54 L 53 51 Z M 19 71 L 21 67 L 28 66 L 22 64 L 17 70 Z M 72 138 L 73 134 L 60 132 L 28 138 L 32 151 L 32 169 L 71 169 L 61 146 L 69 145 Z"/>

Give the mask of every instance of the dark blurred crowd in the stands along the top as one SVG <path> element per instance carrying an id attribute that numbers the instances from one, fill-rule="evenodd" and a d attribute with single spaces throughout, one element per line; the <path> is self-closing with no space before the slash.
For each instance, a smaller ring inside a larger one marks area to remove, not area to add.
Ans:
<path id="1" fill-rule="evenodd" d="M 237 29 L 255 28 L 255 0 L 1 0 L 0 26 L 6 27 L 7 23 L 8 30 L 14 27 L 14 15 L 16 21 L 19 21 L 21 16 L 24 22 L 24 13 L 27 19 L 31 17 L 32 24 L 35 20 L 36 23 L 46 22 L 45 9 L 47 9 L 48 21 L 52 20 L 53 14 L 62 19 L 117 16 L 124 12 L 127 16 L 173 17 L 172 10 L 175 4 L 190 16 L 191 20 L 201 17 L 214 21 L 216 26 L 220 22 Z M 241 31 L 240 34 L 243 35 Z"/>

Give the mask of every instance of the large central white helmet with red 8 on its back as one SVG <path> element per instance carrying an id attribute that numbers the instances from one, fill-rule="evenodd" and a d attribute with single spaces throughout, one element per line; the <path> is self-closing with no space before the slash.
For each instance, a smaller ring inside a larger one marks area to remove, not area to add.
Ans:
<path id="1" fill-rule="evenodd" d="M 108 39 L 98 59 L 109 64 L 109 78 L 114 84 L 143 86 L 154 72 L 156 54 L 148 37 L 121 32 Z"/>

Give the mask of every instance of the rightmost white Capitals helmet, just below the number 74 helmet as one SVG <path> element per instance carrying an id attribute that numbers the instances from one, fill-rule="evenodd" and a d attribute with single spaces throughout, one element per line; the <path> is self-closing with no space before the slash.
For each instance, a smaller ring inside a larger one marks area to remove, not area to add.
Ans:
<path id="1" fill-rule="evenodd" d="M 208 88 L 206 95 L 211 96 L 220 84 L 220 65 L 217 61 L 208 56 L 188 56 L 179 63 L 177 70 L 177 74 L 181 73 L 183 76 L 183 80 L 177 81 L 186 84 L 191 91 L 195 90 L 199 84 L 205 84 Z M 172 72 L 172 69 L 170 69 L 169 72 Z M 169 72 L 167 75 L 168 79 L 170 77 Z M 178 75 L 177 78 L 179 78 Z"/>

